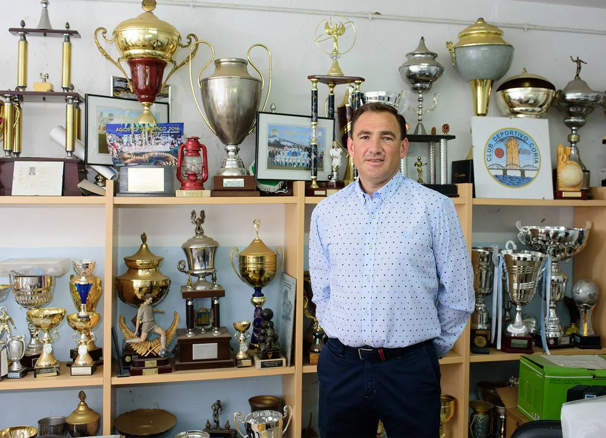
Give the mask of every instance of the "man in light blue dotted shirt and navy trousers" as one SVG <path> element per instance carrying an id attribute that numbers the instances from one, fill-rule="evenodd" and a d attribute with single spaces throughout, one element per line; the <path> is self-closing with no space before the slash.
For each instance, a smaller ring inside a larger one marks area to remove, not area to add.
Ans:
<path id="1" fill-rule="evenodd" d="M 359 178 L 311 214 L 309 268 L 329 339 L 318 359 L 322 438 L 438 437 L 440 368 L 474 308 L 454 205 L 399 172 L 406 121 L 362 105 L 347 148 Z"/>

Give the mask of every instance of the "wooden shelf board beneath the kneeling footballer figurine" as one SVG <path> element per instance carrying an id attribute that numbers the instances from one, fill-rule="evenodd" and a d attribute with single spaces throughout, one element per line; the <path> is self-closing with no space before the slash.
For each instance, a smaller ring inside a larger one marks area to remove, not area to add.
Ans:
<path id="1" fill-rule="evenodd" d="M 295 367 L 268 368 L 257 370 L 247 368 L 211 368 L 210 370 L 174 371 L 168 374 L 153 376 L 118 377 L 117 370 L 112 372 L 112 386 L 144 385 L 148 383 L 195 382 L 196 380 L 239 379 L 241 377 L 282 376 L 295 374 Z"/>

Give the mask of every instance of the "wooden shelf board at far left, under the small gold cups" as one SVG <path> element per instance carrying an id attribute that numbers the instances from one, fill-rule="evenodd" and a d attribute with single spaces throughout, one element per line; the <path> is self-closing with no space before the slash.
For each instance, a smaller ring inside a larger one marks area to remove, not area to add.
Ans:
<path id="1" fill-rule="evenodd" d="M 81 388 L 103 385 L 103 365 L 97 367 L 92 376 L 70 376 L 70 368 L 61 362 L 59 376 L 34 377 L 33 371 L 23 379 L 4 379 L 0 383 L 0 391 L 14 390 L 43 390 L 47 388 Z"/>

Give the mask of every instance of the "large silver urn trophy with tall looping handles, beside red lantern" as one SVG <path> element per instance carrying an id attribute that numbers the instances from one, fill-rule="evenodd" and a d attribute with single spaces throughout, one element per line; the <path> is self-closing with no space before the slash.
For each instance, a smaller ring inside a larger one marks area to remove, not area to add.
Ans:
<path id="1" fill-rule="evenodd" d="M 263 44 L 253 44 L 248 48 L 247 59 L 241 58 L 219 58 L 215 60 L 215 71 L 208 78 L 201 79 L 202 72 L 215 58 L 215 49 L 207 41 L 196 41 L 190 47 L 191 51 L 198 44 L 206 44 L 212 50 L 210 61 L 198 72 L 197 82 L 202 97 L 202 105 L 208 116 L 204 116 L 202 108 L 198 104 L 196 91 L 193 85 L 191 63 L 189 66 L 191 93 L 193 94 L 196 107 L 207 124 L 208 128 L 225 145 L 227 157 L 222 161 L 216 176 L 213 177 L 213 192 L 215 196 L 221 196 L 221 191 L 239 191 L 242 196 L 254 196 L 256 191 L 255 176 L 248 173 L 247 167 L 240 158 L 238 151 L 240 144 L 255 128 L 256 114 L 261 105 L 261 93 L 265 87 L 265 78 L 261 70 L 250 59 L 250 51 L 255 47 L 267 50 L 269 57 L 269 81 L 267 95 L 261 111 L 269 99 L 271 91 L 271 52 Z M 247 65 L 250 65 L 261 76 L 255 78 L 248 73 Z"/>

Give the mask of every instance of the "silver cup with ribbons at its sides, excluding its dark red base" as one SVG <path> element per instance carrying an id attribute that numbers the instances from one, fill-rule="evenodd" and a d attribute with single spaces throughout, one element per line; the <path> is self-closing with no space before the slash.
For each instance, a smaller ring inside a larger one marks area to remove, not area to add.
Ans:
<path id="1" fill-rule="evenodd" d="M 528 336 L 528 328 L 522 319 L 522 306 L 533 299 L 536 287 L 544 271 L 545 254 L 536 251 L 504 250 L 505 285 L 509 299 L 516 306 L 516 315 L 507 328 L 511 336 Z"/>

